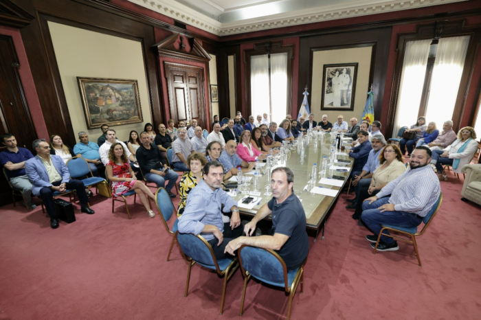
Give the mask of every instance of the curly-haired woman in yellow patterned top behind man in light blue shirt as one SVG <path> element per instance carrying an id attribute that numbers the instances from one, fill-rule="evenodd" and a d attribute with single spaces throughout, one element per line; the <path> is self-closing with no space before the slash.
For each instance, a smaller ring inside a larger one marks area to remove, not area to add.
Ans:
<path id="1" fill-rule="evenodd" d="M 179 209 L 177 210 L 178 217 L 183 214 L 183 210 L 185 209 L 187 203 L 187 196 L 190 190 L 192 190 L 199 182 L 201 182 L 202 168 L 204 168 L 204 165 L 207 164 L 207 159 L 205 159 L 201 152 L 194 152 L 187 157 L 187 163 L 189 163 L 190 171 L 183 173 L 179 183 L 179 193 L 181 199 L 179 202 Z"/>

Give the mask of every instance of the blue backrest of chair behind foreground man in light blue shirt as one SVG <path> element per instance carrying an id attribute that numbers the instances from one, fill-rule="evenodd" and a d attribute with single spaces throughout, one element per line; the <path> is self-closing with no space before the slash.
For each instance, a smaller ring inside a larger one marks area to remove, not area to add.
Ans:
<path id="1" fill-rule="evenodd" d="M 177 241 L 181 246 L 184 255 L 190 257 L 195 262 L 208 266 L 217 272 L 221 272 L 217 265 L 217 260 L 210 247 L 209 242 L 201 236 L 194 236 L 192 233 L 177 234 Z"/>

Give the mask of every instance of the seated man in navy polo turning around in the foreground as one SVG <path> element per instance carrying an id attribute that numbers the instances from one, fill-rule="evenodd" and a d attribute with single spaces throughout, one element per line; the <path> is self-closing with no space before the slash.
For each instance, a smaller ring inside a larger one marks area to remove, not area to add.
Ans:
<path id="1" fill-rule="evenodd" d="M 299 198 L 293 194 L 294 174 L 289 168 L 272 170 L 272 198 L 258 209 L 256 216 L 244 227 L 246 236 L 230 240 L 225 252 L 243 245 L 275 250 L 286 263 L 287 270 L 298 268 L 307 258 L 309 238 L 306 232 L 306 214 Z M 251 237 L 257 222 L 272 214 L 269 236 Z"/>

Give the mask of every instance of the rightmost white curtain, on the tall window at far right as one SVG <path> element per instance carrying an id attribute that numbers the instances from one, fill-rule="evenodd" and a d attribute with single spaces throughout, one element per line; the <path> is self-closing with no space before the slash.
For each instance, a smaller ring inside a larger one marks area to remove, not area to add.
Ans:
<path id="1" fill-rule="evenodd" d="M 426 121 L 438 128 L 453 117 L 468 45 L 469 36 L 439 39 L 426 111 Z"/>

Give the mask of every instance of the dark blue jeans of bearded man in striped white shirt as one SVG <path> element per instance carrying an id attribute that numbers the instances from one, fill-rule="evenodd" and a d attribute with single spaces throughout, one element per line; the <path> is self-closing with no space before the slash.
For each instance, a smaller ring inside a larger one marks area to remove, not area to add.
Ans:
<path id="1" fill-rule="evenodd" d="M 395 225 L 399 227 L 417 227 L 421 225 L 423 219 L 416 214 L 403 211 L 385 211 L 377 209 L 381 205 L 388 203 L 390 197 L 385 196 L 377 201 L 369 204 L 369 201 L 364 201 L 362 204 L 362 214 L 361 219 L 366 224 L 366 227 L 370 229 L 376 236 L 379 236 L 381 232 L 381 225 Z M 390 234 L 388 231 L 384 230 L 383 234 Z M 394 239 L 381 236 L 383 242 L 391 244 Z"/>

